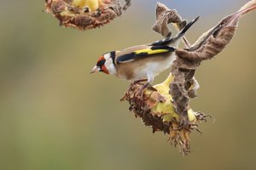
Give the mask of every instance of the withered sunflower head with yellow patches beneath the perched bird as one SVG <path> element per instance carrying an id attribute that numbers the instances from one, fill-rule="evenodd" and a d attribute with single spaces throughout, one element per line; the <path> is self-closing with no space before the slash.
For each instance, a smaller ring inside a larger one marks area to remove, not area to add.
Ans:
<path id="1" fill-rule="evenodd" d="M 153 133 L 167 134 L 171 144 L 176 146 L 182 155 L 187 155 L 190 152 L 189 134 L 193 130 L 200 132 L 198 125 L 207 121 L 207 115 L 189 108 L 189 124 L 180 127 L 181 117 L 175 111 L 172 96 L 169 94 L 169 85 L 173 78 L 170 75 L 165 82 L 145 89 L 143 95 L 138 93 L 143 84 L 131 83 L 122 100 L 129 102 L 130 111 L 141 118 L 145 126 L 152 127 Z"/>

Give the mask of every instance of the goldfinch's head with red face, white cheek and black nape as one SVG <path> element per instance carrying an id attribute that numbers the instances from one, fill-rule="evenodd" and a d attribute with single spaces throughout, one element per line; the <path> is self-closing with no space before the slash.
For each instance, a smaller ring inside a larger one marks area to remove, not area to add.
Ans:
<path id="1" fill-rule="evenodd" d="M 103 54 L 96 62 L 96 65 L 92 68 L 90 73 L 94 72 L 104 72 L 106 74 L 115 74 L 115 52 L 109 52 L 107 54 Z"/>

